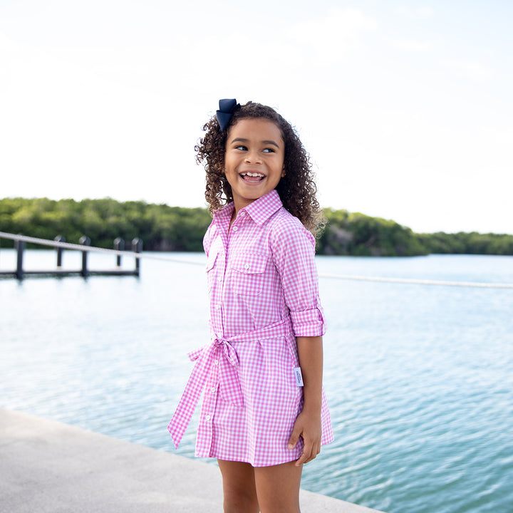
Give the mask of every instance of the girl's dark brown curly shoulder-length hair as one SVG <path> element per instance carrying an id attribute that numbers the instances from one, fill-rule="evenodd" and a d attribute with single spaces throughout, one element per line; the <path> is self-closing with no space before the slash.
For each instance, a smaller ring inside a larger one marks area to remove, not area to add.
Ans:
<path id="1" fill-rule="evenodd" d="M 290 123 L 276 110 L 260 103 L 248 102 L 245 105 L 237 105 L 226 130 L 219 128 L 215 117 L 203 126 L 206 133 L 199 140 L 199 144 L 195 145 L 195 150 L 196 162 L 204 165 L 207 173 L 205 199 L 209 204 L 209 211 L 212 213 L 233 201 L 232 187 L 224 175 L 224 152 L 229 128 L 245 118 L 265 118 L 281 130 L 285 142 L 286 175 L 280 179 L 276 191 L 284 207 L 318 237 L 326 222 L 316 199 L 317 187 L 309 154 Z"/>

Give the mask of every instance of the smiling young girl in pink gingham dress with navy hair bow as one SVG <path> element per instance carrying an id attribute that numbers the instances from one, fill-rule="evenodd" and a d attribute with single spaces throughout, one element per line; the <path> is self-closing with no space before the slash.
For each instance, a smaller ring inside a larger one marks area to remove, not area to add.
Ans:
<path id="1" fill-rule="evenodd" d="M 322 215 L 309 157 L 272 108 L 220 100 L 196 146 L 212 341 L 168 427 L 177 446 L 204 390 L 196 455 L 217 457 L 224 512 L 299 512 L 304 463 L 333 440 L 314 262 Z"/>

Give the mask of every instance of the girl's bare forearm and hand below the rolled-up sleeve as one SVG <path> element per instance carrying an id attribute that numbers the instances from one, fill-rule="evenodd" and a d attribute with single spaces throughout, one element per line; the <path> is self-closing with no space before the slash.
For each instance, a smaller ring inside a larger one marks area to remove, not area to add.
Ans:
<path id="1" fill-rule="evenodd" d="M 299 366 L 303 374 L 304 406 L 294 423 L 289 439 L 289 449 L 293 449 L 303 437 L 303 454 L 296 466 L 308 463 L 321 452 L 321 400 L 323 373 L 322 337 L 297 337 Z"/>

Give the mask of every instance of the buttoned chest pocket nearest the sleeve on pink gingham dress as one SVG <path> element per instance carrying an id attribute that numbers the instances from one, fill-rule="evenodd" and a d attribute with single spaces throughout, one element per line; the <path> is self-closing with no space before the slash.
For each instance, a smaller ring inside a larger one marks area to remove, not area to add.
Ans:
<path id="1" fill-rule="evenodd" d="M 230 281 L 235 294 L 256 296 L 264 287 L 264 271 L 268 255 L 255 253 L 237 254 L 232 260 Z"/>

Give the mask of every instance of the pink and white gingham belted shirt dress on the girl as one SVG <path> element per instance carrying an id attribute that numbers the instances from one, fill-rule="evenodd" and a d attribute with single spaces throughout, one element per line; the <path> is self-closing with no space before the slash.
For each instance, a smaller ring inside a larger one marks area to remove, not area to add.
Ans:
<path id="1" fill-rule="evenodd" d="M 196 455 L 254 467 L 297 460 L 287 444 L 303 406 L 296 336 L 323 335 L 314 237 L 276 190 L 240 209 L 214 212 L 204 237 L 212 340 L 196 361 L 167 429 L 175 446 L 204 391 Z M 322 444 L 333 441 L 323 393 Z"/>

